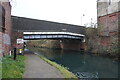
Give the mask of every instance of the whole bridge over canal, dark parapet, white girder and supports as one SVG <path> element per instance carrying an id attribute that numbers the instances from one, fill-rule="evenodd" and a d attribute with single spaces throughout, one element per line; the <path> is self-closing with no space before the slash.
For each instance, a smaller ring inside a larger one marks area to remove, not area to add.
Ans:
<path id="1" fill-rule="evenodd" d="M 12 16 L 13 36 L 24 40 L 55 39 L 62 47 L 80 48 L 85 27 L 45 20 Z"/>

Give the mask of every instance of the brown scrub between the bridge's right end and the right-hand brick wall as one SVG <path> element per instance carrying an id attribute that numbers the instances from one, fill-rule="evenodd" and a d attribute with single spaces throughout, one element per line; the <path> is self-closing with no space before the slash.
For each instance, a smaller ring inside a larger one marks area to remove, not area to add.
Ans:
<path id="1" fill-rule="evenodd" d="M 98 49 L 100 47 L 100 37 L 98 36 L 98 30 L 97 28 L 86 28 L 86 42 L 85 42 L 85 45 L 86 45 L 86 49 L 87 51 L 90 51 L 90 52 L 99 52 Z"/>

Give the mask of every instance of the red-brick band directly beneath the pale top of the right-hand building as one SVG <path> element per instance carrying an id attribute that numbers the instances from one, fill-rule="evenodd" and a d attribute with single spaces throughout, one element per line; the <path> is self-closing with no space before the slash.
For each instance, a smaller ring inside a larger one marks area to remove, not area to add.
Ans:
<path id="1" fill-rule="evenodd" d="M 101 36 L 111 36 L 118 32 L 118 16 L 120 12 L 98 17 L 98 27 Z"/>

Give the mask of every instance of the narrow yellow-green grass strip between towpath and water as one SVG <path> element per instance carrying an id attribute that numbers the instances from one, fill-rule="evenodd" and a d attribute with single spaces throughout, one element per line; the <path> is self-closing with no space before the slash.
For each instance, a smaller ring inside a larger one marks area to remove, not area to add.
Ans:
<path id="1" fill-rule="evenodd" d="M 72 72 L 68 71 L 66 67 L 61 66 L 55 62 L 52 62 L 43 56 L 40 56 L 40 58 L 46 61 L 47 63 L 49 63 L 50 65 L 56 67 L 61 72 L 61 74 L 64 76 L 66 80 L 78 80 L 77 76 L 74 75 Z"/>

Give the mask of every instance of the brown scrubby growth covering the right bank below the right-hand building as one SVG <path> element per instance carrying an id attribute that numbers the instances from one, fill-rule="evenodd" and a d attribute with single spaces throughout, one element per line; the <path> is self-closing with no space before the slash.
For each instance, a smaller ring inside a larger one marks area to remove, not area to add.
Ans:
<path id="1" fill-rule="evenodd" d="M 117 59 L 120 48 L 118 46 L 118 34 L 112 33 L 106 36 L 104 33 L 101 35 L 102 29 L 102 25 L 98 28 L 86 28 L 85 50 Z"/>

